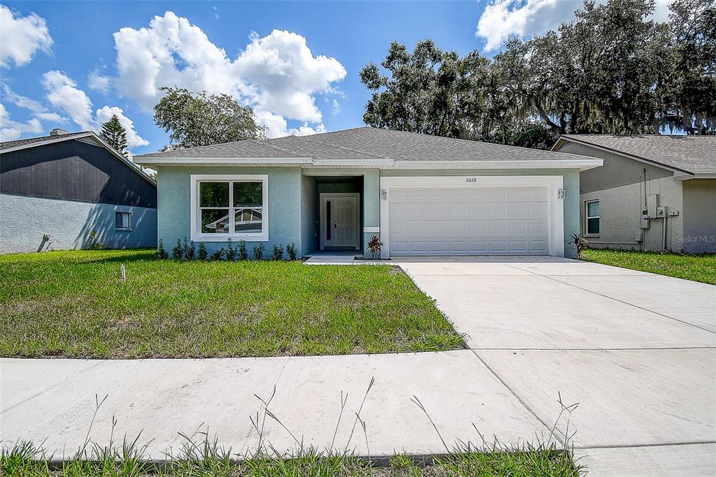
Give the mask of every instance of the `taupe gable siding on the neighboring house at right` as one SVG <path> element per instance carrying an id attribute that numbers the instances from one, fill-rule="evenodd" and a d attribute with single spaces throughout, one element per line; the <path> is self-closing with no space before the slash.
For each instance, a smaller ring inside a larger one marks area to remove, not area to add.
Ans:
<path id="1" fill-rule="evenodd" d="M 603 166 L 580 172 L 579 192 L 581 194 L 622 185 L 637 184 L 637 182 L 644 180 L 644 169 L 647 169 L 647 181 L 669 177 L 674 174 L 668 169 L 629 159 L 613 152 L 602 151 L 584 144 L 565 142 L 558 150 L 560 152 L 569 152 L 570 154 L 581 154 L 604 159 Z"/>

